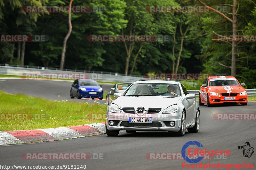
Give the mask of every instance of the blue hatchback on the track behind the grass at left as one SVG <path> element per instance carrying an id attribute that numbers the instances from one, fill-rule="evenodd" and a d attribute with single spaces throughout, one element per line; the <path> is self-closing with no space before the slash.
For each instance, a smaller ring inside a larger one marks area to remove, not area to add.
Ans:
<path id="1" fill-rule="evenodd" d="M 101 85 L 95 80 L 90 79 L 76 79 L 71 86 L 70 98 L 76 97 L 77 99 L 85 98 L 103 98 L 103 89 Z"/>

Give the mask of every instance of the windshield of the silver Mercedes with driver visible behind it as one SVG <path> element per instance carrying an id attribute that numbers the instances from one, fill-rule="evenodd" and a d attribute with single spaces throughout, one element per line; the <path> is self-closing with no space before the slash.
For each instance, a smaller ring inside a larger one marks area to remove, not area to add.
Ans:
<path id="1" fill-rule="evenodd" d="M 143 83 L 133 84 L 124 96 L 180 96 L 180 87 L 175 84 Z"/>

